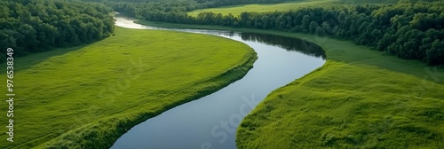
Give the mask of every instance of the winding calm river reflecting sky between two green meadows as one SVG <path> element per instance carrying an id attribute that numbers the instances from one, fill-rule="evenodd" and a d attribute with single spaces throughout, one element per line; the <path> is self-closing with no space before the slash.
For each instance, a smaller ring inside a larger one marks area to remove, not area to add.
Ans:
<path id="1" fill-rule="evenodd" d="M 163 29 L 134 24 L 131 19 L 123 17 L 116 17 L 116 25 Z M 241 41 L 258 53 L 258 60 L 241 80 L 140 123 L 111 148 L 236 148 L 236 128 L 246 114 L 271 91 L 310 73 L 325 62 L 321 47 L 294 38 L 200 29 L 174 30 Z"/>

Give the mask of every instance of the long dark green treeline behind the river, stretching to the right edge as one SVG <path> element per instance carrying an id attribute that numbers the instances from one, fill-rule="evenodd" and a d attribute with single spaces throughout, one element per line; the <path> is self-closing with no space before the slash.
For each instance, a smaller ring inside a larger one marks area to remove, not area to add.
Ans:
<path id="1" fill-rule="evenodd" d="M 403 59 L 444 64 L 444 3 L 401 0 L 399 4 L 335 5 L 289 12 L 242 12 L 240 16 L 186 12 L 209 7 L 212 1 L 110 3 L 115 11 L 139 19 L 172 23 L 252 27 L 329 35 L 368 45 Z M 224 1 L 225 2 L 225 1 Z"/>

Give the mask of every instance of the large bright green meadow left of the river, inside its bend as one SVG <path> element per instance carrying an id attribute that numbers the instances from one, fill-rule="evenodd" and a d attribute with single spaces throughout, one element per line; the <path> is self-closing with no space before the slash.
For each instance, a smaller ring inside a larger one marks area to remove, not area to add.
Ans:
<path id="1" fill-rule="evenodd" d="M 137 123 L 240 79 L 256 58 L 223 37 L 122 27 L 97 43 L 16 58 L 14 143 L 3 132 L 0 148 L 107 148 Z"/>

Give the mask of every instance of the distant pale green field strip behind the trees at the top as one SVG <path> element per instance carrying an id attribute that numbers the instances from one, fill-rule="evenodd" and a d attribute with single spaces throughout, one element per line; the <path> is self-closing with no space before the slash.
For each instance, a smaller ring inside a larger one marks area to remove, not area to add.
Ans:
<path id="1" fill-rule="evenodd" d="M 395 3 L 396 0 L 296 0 L 293 2 L 281 3 L 281 4 L 240 4 L 230 5 L 218 8 L 209 8 L 202 10 L 195 10 L 188 12 L 188 15 L 197 16 L 200 12 L 215 12 L 228 15 L 232 13 L 234 16 L 238 16 L 242 12 L 275 12 L 275 11 L 289 11 L 295 10 L 301 7 L 308 6 L 331 6 L 333 4 L 382 4 L 382 3 Z"/>

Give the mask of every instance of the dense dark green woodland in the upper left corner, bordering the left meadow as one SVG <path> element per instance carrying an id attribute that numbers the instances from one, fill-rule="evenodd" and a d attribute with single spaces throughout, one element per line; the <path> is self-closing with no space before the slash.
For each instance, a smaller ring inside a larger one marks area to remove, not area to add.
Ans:
<path id="1" fill-rule="evenodd" d="M 114 32 L 113 10 L 104 4 L 66 0 L 0 1 L 0 57 L 6 48 L 24 55 L 91 43 Z"/>

